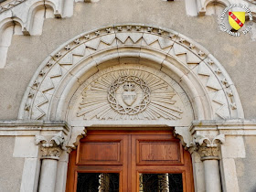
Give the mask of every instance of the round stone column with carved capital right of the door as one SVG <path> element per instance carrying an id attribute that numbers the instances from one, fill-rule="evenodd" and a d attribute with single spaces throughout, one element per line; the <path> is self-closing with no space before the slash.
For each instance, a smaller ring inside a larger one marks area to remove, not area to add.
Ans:
<path id="1" fill-rule="evenodd" d="M 219 134 L 212 140 L 202 135 L 195 135 L 197 152 L 201 156 L 205 169 L 207 192 L 221 192 L 219 174 L 219 145 L 225 142 L 224 134 Z"/>

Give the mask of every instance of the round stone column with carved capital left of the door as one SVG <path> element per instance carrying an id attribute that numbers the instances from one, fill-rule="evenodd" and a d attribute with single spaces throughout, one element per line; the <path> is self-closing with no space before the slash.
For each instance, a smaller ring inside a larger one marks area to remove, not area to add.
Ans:
<path id="1" fill-rule="evenodd" d="M 39 192 L 54 192 L 56 184 L 59 155 L 65 149 L 64 137 L 59 133 L 49 140 L 45 136 L 37 135 L 36 144 L 41 144 L 42 165 L 39 181 Z"/>

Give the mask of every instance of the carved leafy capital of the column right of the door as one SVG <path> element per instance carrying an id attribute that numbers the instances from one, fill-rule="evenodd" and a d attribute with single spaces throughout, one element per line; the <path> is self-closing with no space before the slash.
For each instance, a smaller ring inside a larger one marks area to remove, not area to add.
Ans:
<path id="1" fill-rule="evenodd" d="M 219 147 L 220 144 L 223 144 L 224 142 L 224 134 L 219 134 L 212 140 L 200 134 L 194 136 L 194 144 L 198 154 L 201 156 L 201 161 L 219 160 Z"/>

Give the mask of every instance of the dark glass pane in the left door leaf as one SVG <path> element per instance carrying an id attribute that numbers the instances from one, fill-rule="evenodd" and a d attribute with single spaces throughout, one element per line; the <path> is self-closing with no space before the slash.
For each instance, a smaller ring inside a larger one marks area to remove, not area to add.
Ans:
<path id="1" fill-rule="evenodd" d="M 79 173 L 77 192 L 118 192 L 119 174 Z"/>

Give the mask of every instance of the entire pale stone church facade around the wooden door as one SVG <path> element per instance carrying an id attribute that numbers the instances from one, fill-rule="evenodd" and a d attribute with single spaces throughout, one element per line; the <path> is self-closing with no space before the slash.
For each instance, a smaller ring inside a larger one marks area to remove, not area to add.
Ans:
<path id="1" fill-rule="evenodd" d="M 233 37 L 219 16 L 239 3 L 252 28 Z M 254 0 L 2 1 L 0 191 L 69 191 L 70 153 L 95 130 L 169 130 L 191 158 L 184 191 L 256 191 L 255 13 Z"/>

